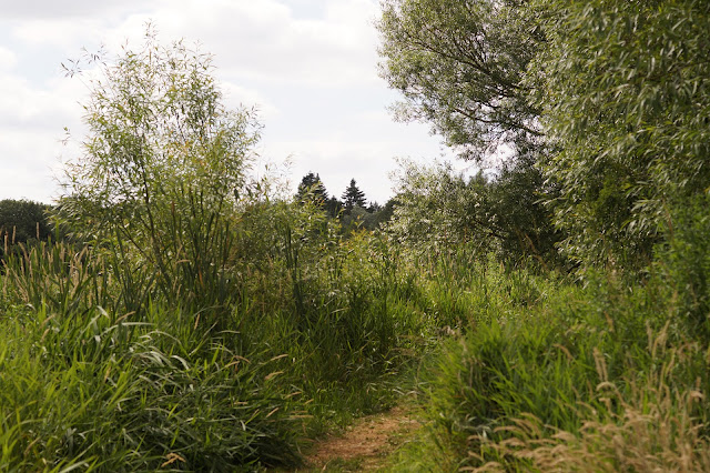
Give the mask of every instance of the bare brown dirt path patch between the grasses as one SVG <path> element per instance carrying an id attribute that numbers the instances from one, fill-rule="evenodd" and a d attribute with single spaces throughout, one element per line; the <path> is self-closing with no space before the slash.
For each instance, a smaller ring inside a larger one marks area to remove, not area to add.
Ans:
<path id="1" fill-rule="evenodd" d="M 342 435 L 316 443 L 305 471 L 375 471 L 419 426 L 406 406 L 362 417 Z"/>

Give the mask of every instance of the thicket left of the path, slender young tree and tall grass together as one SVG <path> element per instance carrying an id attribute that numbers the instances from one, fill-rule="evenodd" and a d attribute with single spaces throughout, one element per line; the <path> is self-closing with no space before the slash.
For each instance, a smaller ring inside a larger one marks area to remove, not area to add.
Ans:
<path id="1" fill-rule="evenodd" d="M 2 469 L 294 465 L 419 351 L 383 239 L 248 178 L 260 127 L 210 59 L 148 34 L 98 61 L 65 238 L 3 262 Z"/>

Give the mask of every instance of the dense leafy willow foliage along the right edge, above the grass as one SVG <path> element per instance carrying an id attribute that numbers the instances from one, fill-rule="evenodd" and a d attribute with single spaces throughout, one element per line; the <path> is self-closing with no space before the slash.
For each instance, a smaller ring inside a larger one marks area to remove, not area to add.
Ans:
<path id="1" fill-rule="evenodd" d="M 538 103 L 557 223 L 588 262 L 643 262 L 668 207 L 710 179 L 706 2 L 542 1 Z"/>

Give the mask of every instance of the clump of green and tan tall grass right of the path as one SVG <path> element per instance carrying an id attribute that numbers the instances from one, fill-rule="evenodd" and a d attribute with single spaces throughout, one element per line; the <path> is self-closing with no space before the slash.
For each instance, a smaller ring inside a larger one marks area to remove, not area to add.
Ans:
<path id="1" fill-rule="evenodd" d="M 464 282 L 471 330 L 425 362 L 427 430 L 393 471 L 702 471 L 707 343 L 672 280 L 587 279 L 488 266 Z"/>

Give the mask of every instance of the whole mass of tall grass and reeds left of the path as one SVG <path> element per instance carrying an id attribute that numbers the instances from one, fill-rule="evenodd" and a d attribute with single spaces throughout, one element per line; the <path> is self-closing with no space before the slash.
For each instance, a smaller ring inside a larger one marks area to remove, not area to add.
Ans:
<path id="1" fill-rule="evenodd" d="M 428 330 L 415 276 L 376 236 L 298 211 L 173 239 L 161 268 L 120 235 L 8 258 L 0 469 L 297 465 L 304 436 L 395 402 L 388 380 Z"/>

